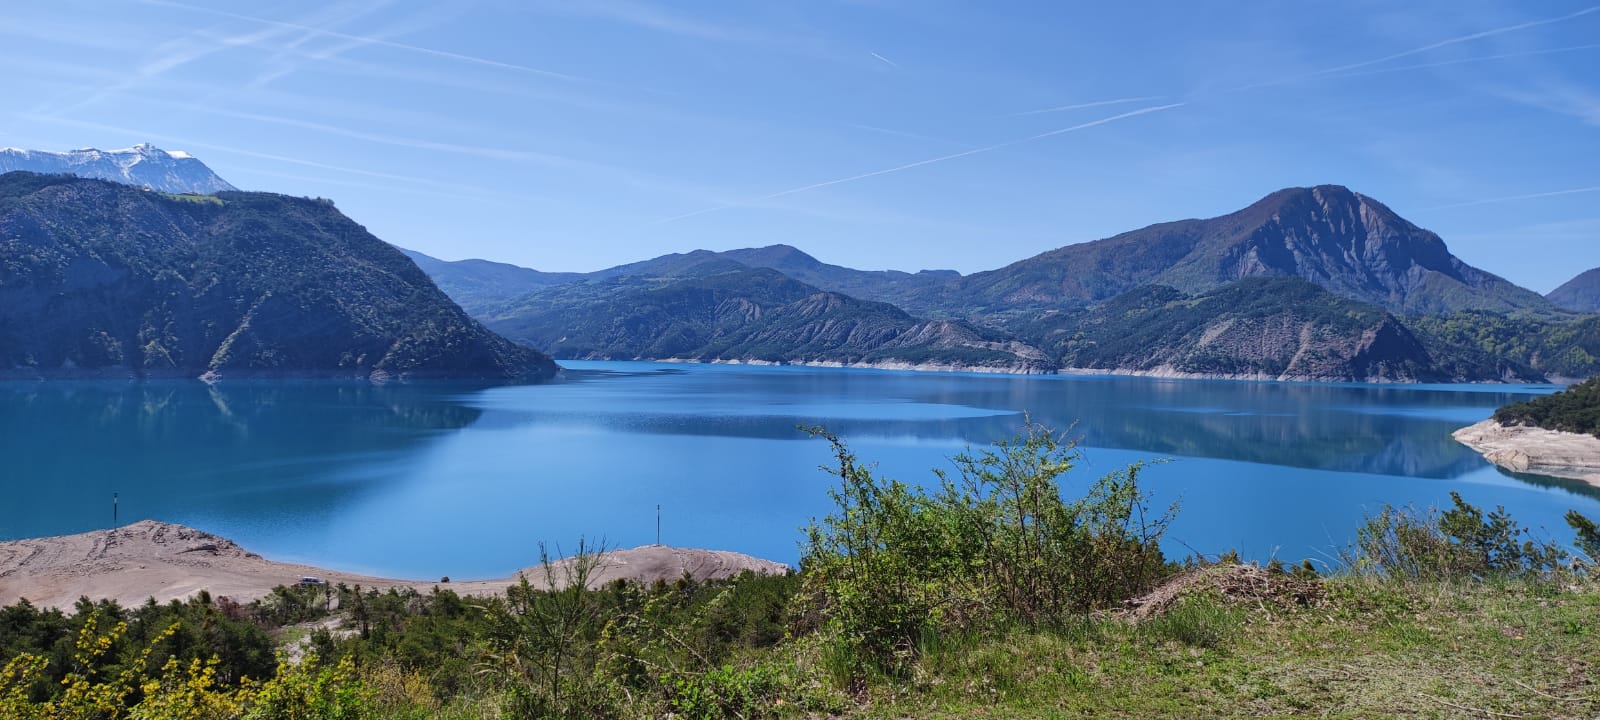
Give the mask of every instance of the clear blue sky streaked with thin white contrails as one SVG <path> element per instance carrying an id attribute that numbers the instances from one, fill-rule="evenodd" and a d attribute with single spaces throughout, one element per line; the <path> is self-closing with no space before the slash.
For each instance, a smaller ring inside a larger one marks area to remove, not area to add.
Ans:
<path id="1" fill-rule="evenodd" d="M 446 259 L 998 267 L 1334 182 L 1538 291 L 1600 266 L 1589 2 L 0 8 L 0 146 L 154 142 Z"/>

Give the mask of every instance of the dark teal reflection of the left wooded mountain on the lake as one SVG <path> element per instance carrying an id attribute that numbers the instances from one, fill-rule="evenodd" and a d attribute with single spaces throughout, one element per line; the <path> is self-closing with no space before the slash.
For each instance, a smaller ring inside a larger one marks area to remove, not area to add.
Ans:
<path id="1" fill-rule="evenodd" d="M 5 382 L 0 538 L 200 515 L 294 517 L 357 501 L 430 437 L 482 413 L 480 386 Z"/>

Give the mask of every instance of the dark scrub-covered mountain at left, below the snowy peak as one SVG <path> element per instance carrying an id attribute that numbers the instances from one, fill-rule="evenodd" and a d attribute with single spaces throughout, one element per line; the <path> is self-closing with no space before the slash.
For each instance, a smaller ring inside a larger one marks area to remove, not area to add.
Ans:
<path id="1" fill-rule="evenodd" d="M 0 374 L 539 379 L 331 202 L 0 176 Z"/>

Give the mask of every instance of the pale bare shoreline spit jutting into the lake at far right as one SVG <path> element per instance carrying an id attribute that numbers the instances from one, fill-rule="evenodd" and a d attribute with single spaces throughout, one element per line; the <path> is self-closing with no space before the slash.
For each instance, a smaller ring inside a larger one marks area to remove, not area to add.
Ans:
<path id="1" fill-rule="evenodd" d="M 1494 418 L 1462 427 L 1450 437 L 1502 469 L 1579 480 L 1600 488 L 1600 437 L 1502 426 Z"/>

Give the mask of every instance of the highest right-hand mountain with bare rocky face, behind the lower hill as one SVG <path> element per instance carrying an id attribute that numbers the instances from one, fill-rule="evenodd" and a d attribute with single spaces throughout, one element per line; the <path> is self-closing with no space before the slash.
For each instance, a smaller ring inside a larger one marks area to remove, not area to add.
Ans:
<path id="1" fill-rule="evenodd" d="M 1339 186 L 1293 187 L 1211 219 L 1067 245 L 960 278 L 926 302 L 958 315 L 1093 306 L 1141 285 L 1205 293 L 1246 277 L 1299 277 L 1395 314 L 1555 307 L 1450 254 L 1438 235 Z"/>

